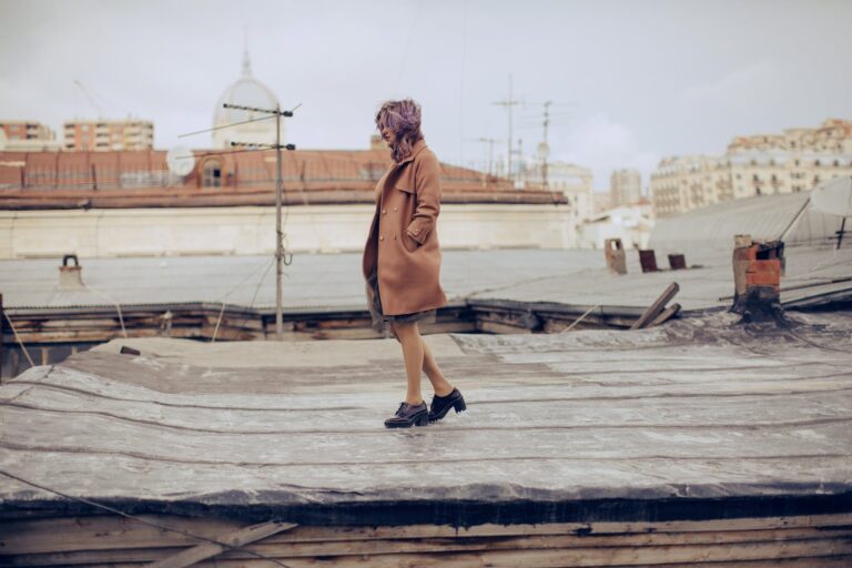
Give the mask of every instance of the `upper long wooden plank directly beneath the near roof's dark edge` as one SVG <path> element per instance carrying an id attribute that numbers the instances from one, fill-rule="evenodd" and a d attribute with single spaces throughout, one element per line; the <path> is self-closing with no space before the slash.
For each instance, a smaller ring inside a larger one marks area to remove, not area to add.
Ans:
<path id="1" fill-rule="evenodd" d="M 139 518 L 191 532 L 216 538 L 233 532 L 240 524 L 213 518 L 140 515 Z M 566 538 L 566 542 L 607 542 L 623 539 L 629 546 L 639 542 L 676 544 L 743 541 L 779 538 L 803 538 L 808 535 L 845 534 L 852 526 L 852 514 L 763 519 L 727 519 L 666 523 L 566 523 L 541 525 L 480 525 L 455 528 L 439 525 L 399 527 L 311 527 L 300 526 L 267 539 L 277 544 L 316 544 L 333 546 L 354 541 L 435 540 L 444 541 L 500 538 Z M 570 540 L 575 539 L 575 540 Z M 659 540 L 658 540 L 659 539 Z M 672 540 L 673 539 L 673 540 Z M 195 544 L 178 531 L 161 530 L 150 525 L 116 516 L 32 519 L 0 523 L 0 550 L 3 555 L 36 555 L 59 551 L 93 551 L 119 548 L 181 547 Z M 2 557 L 0 557 L 2 558 Z"/>

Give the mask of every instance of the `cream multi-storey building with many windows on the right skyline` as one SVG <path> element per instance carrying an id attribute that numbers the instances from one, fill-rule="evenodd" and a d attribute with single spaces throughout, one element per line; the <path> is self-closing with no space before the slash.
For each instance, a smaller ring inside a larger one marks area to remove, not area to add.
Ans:
<path id="1" fill-rule="evenodd" d="M 852 121 L 829 119 L 815 129 L 737 136 L 722 156 L 667 158 L 651 175 L 657 216 L 729 200 L 810 191 L 852 174 Z"/>

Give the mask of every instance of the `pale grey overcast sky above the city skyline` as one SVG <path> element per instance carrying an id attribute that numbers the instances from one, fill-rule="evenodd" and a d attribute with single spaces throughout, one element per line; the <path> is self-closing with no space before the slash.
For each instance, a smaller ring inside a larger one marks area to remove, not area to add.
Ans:
<path id="1" fill-rule="evenodd" d="M 386 99 L 423 104 L 424 133 L 450 163 L 484 161 L 515 94 L 516 142 L 551 159 L 616 168 L 643 185 L 660 158 L 720 154 L 733 135 L 852 119 L 852 2 L 0 0 L 0 120 L 152 120 L 155 146 L 209 128 L 240 77 L 243 30 L 254 75 L 284 108 L 287 141 L 363 149 Z M 189 141 L 207 148 L 210 135 Z"/>

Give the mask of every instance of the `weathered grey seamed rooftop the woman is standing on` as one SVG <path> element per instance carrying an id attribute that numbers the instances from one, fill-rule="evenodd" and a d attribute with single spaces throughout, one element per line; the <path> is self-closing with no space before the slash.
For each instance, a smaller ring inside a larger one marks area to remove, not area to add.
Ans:
<path id="1" fill-rule="evenodd" d="M 849 510 L 852 318 L 733 322 L 432 336 L 468 412 L 406 432 L 382 425 L 389 339 L 113 341 L 0 387 L 0 469 L 136 514 L 321 525 Z M 8 477 L 0 501 L 88 509 Z"/>

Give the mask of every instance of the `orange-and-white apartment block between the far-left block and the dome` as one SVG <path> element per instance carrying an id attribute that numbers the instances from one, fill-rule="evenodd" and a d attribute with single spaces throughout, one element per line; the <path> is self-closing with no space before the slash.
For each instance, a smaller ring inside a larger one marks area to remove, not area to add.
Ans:
<path id="1" fill-rule="evenodd" d="M 154 123 L 146 120 L 73 120 L 63 126 L 62 148 L 79 152 L 114 152 L 154 148 Z"/>

